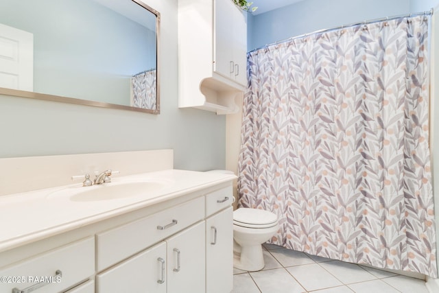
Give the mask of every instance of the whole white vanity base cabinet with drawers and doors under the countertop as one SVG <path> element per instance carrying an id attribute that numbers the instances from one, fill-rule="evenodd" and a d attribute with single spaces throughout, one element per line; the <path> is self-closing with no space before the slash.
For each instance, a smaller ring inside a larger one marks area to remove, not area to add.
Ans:
<path id="1" fill-rule="evenodd" d="M 0 277 L 49 279 L 0 292 L 230 292 L 232 179 L 4 250 Z"/>

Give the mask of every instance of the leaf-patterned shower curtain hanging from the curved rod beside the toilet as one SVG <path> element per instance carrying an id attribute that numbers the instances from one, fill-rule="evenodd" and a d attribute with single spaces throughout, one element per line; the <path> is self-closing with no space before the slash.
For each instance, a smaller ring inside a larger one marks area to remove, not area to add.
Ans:
<path id="1" fill-rule="evenodd" d="M 239 207 L 278 215 L 270 242 L 437 277 L 428 16 L 248 54 Z"/>

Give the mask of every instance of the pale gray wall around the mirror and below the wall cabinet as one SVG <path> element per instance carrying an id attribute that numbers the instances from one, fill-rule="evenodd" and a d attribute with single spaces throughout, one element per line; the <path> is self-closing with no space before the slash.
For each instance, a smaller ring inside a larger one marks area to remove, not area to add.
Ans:
<path id="1" fill-rule="evenodd" d="M 1 158 L 171 148 L 178 169 L 224 169 L 225 117 L 178 108 L 177 0 L 144 1 L 161 12 L 161 115 L 0 95 Z"/>

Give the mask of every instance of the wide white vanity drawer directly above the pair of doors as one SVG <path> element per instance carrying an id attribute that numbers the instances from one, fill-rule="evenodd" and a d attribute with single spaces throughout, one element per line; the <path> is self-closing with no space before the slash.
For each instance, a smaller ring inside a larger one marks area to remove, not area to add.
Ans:
<path id="1" fill-rule="evenodd" d="M 97 271 L 104 270 L 203 219 L 204 197 L 200 197 L 96 234 Z"/>

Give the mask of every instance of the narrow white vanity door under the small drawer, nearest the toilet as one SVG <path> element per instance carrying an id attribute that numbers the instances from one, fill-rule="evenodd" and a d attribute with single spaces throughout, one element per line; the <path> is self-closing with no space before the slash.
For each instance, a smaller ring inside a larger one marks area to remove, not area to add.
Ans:
<path id="1" fill-rule="evenodd" d="M 233 289 L 233 208 L 206 220 L 206 292 Z"/>

